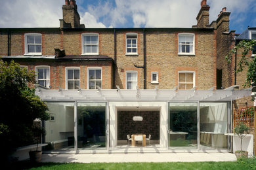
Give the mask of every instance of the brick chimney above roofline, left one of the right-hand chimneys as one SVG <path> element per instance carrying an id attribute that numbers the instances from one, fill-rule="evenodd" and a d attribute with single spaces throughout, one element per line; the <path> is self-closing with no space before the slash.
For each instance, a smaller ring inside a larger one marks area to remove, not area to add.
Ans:
<path id="1" fill-rule="evenodd" d="M 196 27 L 203 28 L 203 27 L 209 27 L 209 5 L 207 5 L 206 0 L 201 1 L 201 9 L 198 12 L 198 16 L 196 17 L 196 20 L 198 20 L 198 24 Z"/>

